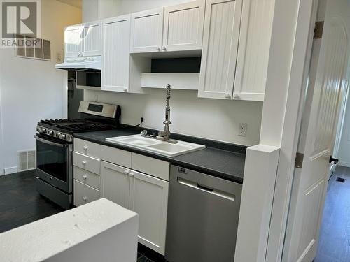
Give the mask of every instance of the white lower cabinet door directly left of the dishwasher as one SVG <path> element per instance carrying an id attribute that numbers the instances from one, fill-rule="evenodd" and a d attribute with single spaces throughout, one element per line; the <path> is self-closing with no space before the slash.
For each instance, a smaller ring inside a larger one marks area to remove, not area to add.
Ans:
<path id="1" fill-rule="evenodd" d="M 139 214 L 139 242 L 165 254 L 169 182 L 132 170 L 130 209 Z"/>

